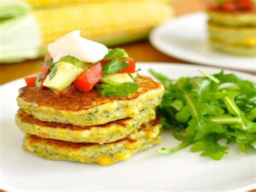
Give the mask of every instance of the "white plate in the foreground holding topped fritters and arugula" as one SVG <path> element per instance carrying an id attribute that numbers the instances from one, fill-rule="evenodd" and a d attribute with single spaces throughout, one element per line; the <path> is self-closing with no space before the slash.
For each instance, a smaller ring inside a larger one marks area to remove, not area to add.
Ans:
<path id="1" fill-rule="evenodd" d="M 219 72 L 216 68 L 181 64 L 144 63 L 138 67 L 142 68 L 142 74 L 149 75 L 147 70 L 153 68 L 171 78 L 196 76 L 198 68 L 208 73 Z M 249 74 L 237 74 L 253 80 Z M 171 155 L 157 154 L 156 150 L 161 147 L 179 144 L 168 132 L 162 134 L 160 145 L 107 167 L 46 160 L 25 152 L 21 147 L 24 134 L 14 119 L 18 88 L 22 86 L 25 86 L 23 79 L 1 86 L 0 189 L 198 191 L 232 190 L 255 182 L 255 154 L 242 154 L 235 145 L 221 161 L 192 153 L 190 147 Z"/>

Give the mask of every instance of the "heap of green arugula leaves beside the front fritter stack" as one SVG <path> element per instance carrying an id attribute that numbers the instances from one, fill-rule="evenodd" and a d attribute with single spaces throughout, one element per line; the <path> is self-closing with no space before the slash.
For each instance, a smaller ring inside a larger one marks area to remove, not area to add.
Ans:
<path id="1" fill-rule="evenodd" d="M 200 70 L 199 70 L 200 71 Z M 220 160 L 228 154 L 228 146 L 219 140 L 237 143 L 241 152 L 256 148 L 256 86 L 234 74 L 207 74 L 203 77 L 169 79 L 150 70 L 165 86 L 163 101 L 157 109 L 164 128 L 172 129 L 181 144 L 158 150 L 174 153 L 192 145 L 192 152 Z"/>

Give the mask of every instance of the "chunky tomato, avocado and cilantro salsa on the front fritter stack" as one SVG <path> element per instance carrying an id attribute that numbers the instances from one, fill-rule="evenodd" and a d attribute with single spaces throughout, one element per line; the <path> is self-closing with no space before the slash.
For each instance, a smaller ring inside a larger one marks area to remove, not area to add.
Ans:
<path id="1" fill-rule="evenodd" d="M 28 86 L 49 89 L 57 95 L 86 93 L 96 88 L 104 96 L 127 97 L 138 90 L 136 63 L 120 48 L 109 49 L 101 60 L 86 63 L 72 56 L 53 62 L 50 53 L 40 62 L 42 70 L 26 77 Z"/>

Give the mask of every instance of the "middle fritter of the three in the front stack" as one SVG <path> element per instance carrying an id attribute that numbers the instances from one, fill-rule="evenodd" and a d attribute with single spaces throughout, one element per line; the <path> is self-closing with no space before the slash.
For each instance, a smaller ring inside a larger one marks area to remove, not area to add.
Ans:
<path id="1" fill-rule="evenodd" d="M 125 118 L 98 126 L 74 126 L 40 121 L 26 114 L 23 109 L 19 109 L 15 120 L 23 133 L 37 135 L 41 138 L 102 144 L 123 139 L 142 124 L 155 118 L 154 109 L 146 109 L 134 118 Z"/>

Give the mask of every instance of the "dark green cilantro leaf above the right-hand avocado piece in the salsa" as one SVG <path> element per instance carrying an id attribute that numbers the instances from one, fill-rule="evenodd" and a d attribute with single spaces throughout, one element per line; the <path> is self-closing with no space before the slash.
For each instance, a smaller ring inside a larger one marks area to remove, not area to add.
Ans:
<path id="1" fill-rule="evenodd" d="M 130 65 L 125 63 L 125 59 L 111 59 L 102 66 L 103 74 L 113 74 L 125 70 Z"/>

